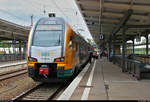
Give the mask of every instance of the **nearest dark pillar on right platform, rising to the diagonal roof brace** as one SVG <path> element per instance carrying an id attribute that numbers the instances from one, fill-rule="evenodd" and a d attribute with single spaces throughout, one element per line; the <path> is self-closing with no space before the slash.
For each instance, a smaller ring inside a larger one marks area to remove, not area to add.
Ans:
<path id="1" fill-rule="evenodd" d="M 122 72 L 125 72 L 125 52 L 126 52 L 126 29 L 122 30 Z"/>

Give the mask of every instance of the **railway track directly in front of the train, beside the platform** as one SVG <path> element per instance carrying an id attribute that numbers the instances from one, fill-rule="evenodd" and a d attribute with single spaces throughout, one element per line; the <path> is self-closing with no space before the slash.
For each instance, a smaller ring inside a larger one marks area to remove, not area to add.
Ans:
<path id="1" fill-rule="evenodd" d="M 43 84 L 35 86 L 32 89 L 23 92 L 20 96 L 12 99 L 15 100 L 50 100 L 52 99 L 61 89 L 62 84 Z"/>

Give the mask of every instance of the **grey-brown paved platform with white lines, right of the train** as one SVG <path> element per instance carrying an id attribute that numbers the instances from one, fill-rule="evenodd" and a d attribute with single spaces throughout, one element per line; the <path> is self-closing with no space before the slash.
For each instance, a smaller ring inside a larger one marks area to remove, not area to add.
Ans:
<path id="1" fill-rule="evenodd" d="M 87 64 L 57 100 L 150 100 L 150 80 L 137 80 L 107 58 Z"/>

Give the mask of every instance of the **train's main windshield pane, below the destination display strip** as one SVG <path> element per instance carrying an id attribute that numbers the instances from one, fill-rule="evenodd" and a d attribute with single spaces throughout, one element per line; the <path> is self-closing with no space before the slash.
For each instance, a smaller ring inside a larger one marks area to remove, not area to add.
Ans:
<path id="1" fill-rule="evenodd" d="M 36 31 L 33 39 L 33 46 L 59 46 L 61 33 L 62 31 Z"/>

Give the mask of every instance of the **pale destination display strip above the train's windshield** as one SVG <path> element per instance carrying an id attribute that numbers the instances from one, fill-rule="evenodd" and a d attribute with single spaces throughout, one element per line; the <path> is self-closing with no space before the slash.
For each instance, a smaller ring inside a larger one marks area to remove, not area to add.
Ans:
<path id="1" fill-rule="evenodd" d="M 62 30 L 62 25 L 38 25 L 36 30 Z"/>

